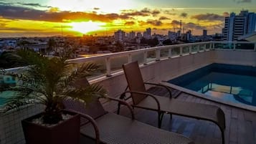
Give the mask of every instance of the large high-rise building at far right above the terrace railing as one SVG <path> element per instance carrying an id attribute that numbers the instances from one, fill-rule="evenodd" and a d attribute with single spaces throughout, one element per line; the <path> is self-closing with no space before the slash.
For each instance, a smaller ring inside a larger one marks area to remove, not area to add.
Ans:
<path id="1" fill-rule="evenodd" d="M 222 34 L 224 40 L 235 41 L 245 34 L 252 34 L 256 30 L 256 14 L 248 11 L 240 11 L 239 15 L 233 12 L 225 18 Z"/>

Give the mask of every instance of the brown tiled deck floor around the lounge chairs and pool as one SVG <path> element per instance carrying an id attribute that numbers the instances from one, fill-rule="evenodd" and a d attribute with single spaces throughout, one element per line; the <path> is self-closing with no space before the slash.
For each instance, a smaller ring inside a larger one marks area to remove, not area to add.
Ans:
<path id="1" fill-rule="evenodd" d="M 221 107 L 226 118 L 225 144 L 256 143 L 256 112 L 204 100 L 183 92 L 179 93 L 179 97 L 176 97 L 176 99 Z M 134 112 L 136 120 L 157 127 L 157 112 L 138 108 L 135 108 Z M 122 108 L 120 114 L 127 117 L 130 116 L 125 108 Z M 198 144 L 222 143 L 221 132 L 217 125 L 205 120 L 196 120 L 177 115 L 173 115 L 173 118 L 170 120 L 169 115 L 164 115 L 161 128 L 186 135 Z M 83 140 L 82 142 L 85 141 Z"/>

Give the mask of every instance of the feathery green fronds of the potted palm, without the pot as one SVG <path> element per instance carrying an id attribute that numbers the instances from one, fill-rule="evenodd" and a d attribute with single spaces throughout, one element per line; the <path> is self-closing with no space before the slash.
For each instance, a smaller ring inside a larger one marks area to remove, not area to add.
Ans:
<path id="1" fill-rule="evenodd" d="M 29 50 L 20 50 L 11 55 L 17 64 L 26 64 L 24 73 L 18 76 L 16 87 L 1 87 L 0 91 L 16 92 L 15 97 L 7 100 L 6 110 L 22 107 L 32 103 L 46 106 L 44 112 L 49 119 L 60 111 L 62 100 L 71 97 L 73 100 L 90 102 L 107 93 L 102 86 L 89 85 L 86 77 L 98 70 L 98 65 L 87 62 L 72 64 L 67 62 L 68 55 L 49 59 Z M 1 72 L 4 74 L 4 72 Z M 0 74 L 1 74 L 0 73 Z"/>

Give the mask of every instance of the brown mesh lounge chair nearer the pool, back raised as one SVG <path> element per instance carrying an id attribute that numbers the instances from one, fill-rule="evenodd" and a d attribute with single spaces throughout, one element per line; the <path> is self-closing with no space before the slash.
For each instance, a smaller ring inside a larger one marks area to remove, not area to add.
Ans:
<path id="1" fill-rule="evenodd" d="M 128 100 L 129 98 L 132 98 L 132 107 L 154 110 L 158 112 L 158 128 L 161 128 L 161 120 L 164 113 L 169 113 L 170 115 L 181 115 L 184 117 L 193 117 L 200 120 L 209 120 L 219 126 L 219 129 L 222 132 L 222 144 L 224 144 L 225 117 L 222 109 L 214 105 L 176 100 L 175 98 L 171 97 L 170 87 L 143 82 L 143 77 L 141 75 L 140 68 L 138 67 L 138 62 L 123 64 L 123 71 L 128 82 L 129 91 L 126 89 L 125 92 L 123 92 L 123 94 L 120 96 L 120 99 Z M 161 97 L 149 93 L 146 90 L 145 84 L 165 88 L 168 90 L 170 97 Z M 126 93 L 130 93 L 131 97 L 126 97 Z M 118 104 L 118 113 L 119 109 L 120 104 Z"/>

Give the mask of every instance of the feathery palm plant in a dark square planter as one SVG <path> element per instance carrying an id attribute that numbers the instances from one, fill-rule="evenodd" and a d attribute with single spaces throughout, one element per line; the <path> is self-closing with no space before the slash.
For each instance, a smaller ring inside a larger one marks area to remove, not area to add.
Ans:
<path id="1" fill-rule="evenodd" d="M 4 110 L 13 110 L 25 105 L 42 104 L 44 112 L 22 120 L 26 142 L 29 143 L 79 143 L 80 115 L 62 110 L 65 98 L 90 102 L 104 97 L 106 91 L 100 85 L 75 87 L 75 82 L 91 75 L 98 69 L 93 63 L 72 64 L 67 62 L 70 52 L 60 57 L 44 57 L 30 50 L 18 50 L 11 59 L 27 65 L 16 86 L 4 87 L 11 90 L 11 97 Z"/>

